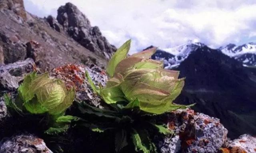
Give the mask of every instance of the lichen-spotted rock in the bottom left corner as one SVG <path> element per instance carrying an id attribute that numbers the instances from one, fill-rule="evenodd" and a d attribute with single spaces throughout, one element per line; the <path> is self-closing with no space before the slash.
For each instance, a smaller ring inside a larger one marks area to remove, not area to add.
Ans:
<path id="1" fill-rule="evenodd" d="M 0 144 L 0 153 L 53 153 L 43 139 L 33 135 L 17 135 Z"/>

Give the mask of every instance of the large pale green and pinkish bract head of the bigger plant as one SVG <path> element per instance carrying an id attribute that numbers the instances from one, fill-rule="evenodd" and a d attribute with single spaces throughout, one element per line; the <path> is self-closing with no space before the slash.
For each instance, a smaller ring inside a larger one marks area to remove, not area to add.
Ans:
<path id="1" fill-rule="evenodd" d="M 188 106 L 173 104 L 184 86 L 178 71 L 163 69 L 163 62 L 150 59 L 156 47 L 127 57 L 130 40 L 126 41 L 110 59 L 106 68 L 110 79 L 104 88 L 96 88 L 87 75 L 94 91 L 107 104 L 128 102 L 127 109 L 140 108 L 144 112 L 163 114 Z"/>

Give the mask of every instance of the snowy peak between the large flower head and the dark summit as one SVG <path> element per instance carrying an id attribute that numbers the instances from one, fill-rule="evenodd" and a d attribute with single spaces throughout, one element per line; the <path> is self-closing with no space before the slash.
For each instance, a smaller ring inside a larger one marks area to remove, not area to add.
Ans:
<path id="1" fill-rule="evenodd" d="M 190 55 L 192 51 L 204 46 L 206 45 L 203 43 L 192 43 L 191 41 L 188 41 L 187 44 L 173 48 L 159 48 L 152 56 L 152 59 L 163 60 L 164 67 L 166 69 L 171 69 L 178 66 L 182 61 L 188 58 L 188 55 Z"/>

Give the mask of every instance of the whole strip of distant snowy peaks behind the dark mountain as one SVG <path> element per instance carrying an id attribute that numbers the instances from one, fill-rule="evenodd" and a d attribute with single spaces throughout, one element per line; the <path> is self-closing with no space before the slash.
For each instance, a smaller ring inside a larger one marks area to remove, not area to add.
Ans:
<path id="1" fill-rule="evenodd" d="M 165 49 L 160 48 L 152 58 L 159 60 L 163 59 L 166 69 L 172 69 L 184 61 L 190 53 L 196 51 L 196 49 L 203 49 L 205 46 L 206 45 L 203 43 L 192 43 L 189 41 L 185 45 L 177 47 Z M 210 47 L 206 46 L 206 48 Z M 214 50 L 236 59 L 244 66 L 256 66 L 256 43 L 251 42 L 240 46 L 228 44 L 225 47 L 219 47 Z"/>

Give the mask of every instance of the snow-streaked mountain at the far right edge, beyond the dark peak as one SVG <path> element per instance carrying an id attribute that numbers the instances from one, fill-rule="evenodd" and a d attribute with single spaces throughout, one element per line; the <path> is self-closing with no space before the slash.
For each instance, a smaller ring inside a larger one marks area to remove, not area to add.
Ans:
<path id="1" fill-rule="evenodd" d="M 242 62 L 245 66 L 256 66 L 256 43 L 246 43 L 240 46 L 230 43 L 219 49 L 222 53 Z"/>

